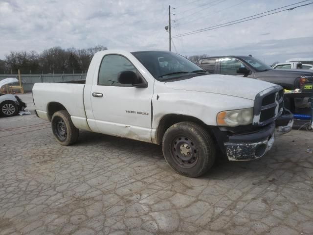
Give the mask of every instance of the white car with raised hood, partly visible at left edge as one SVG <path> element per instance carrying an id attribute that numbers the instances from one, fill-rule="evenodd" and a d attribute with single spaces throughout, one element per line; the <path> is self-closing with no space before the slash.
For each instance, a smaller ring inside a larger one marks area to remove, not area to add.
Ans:
<path id="1" fill-rule="evenodd" d="M 18 82 L 19 80 L 13 77 L 5 78 L 0 81 L 0 90 L 2 86 Z M 11 117 L 17 115 L 20 110 L 24 110 L 27 105 L 22 99 L 14 94 L 0 93 L 0 116 Z"/>

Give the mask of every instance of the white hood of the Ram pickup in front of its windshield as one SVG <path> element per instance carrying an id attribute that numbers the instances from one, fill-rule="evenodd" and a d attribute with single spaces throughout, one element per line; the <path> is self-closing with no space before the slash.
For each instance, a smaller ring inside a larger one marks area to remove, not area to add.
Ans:
<path id="1" fill-rule="evenodd" d="M 256 94 L 277 85 L 247 77 L 209 74 L 166 82 L 165 86 L 176 90 L 224 94 L 254 100 Z"/>

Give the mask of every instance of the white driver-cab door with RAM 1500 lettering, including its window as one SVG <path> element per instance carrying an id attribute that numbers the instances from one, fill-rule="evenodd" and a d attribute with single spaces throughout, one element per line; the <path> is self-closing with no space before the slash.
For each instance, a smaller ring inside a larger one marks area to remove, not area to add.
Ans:
<path id="1" fill-rule="evenodd" d="M 121 84 L 122 71 L 139 71 L 126 57 L 108 54 L 102 58 L 91 87 L 91 106 L 97 130 L 103 134 L 151 142 L 153 84 L 137 88 Z"/>

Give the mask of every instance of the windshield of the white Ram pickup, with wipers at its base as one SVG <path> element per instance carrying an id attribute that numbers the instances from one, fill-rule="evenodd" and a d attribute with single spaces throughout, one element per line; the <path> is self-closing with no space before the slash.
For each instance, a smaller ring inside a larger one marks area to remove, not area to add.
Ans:
<path id="1" fill-rule="evenodd" d="M 198 65 L 185 57 L 168 51 L 138 51 L 132 54 L 158 81 L 177 78 L 191 78 L 195 74 L 204 75 L 204 71 Z"/>

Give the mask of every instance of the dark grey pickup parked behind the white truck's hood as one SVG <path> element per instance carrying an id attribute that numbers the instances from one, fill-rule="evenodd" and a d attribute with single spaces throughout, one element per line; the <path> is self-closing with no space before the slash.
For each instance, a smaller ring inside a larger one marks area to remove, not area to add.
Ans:
<path id="1" fill-rule="evenodd" d="M 214 56 L 201 59 L 199 66 L 210 73 L 256 78 L 282 86 L 284 89 L 302 88 L 313 81 L 310 70 L 274 70 L 252 56 Z"/>

